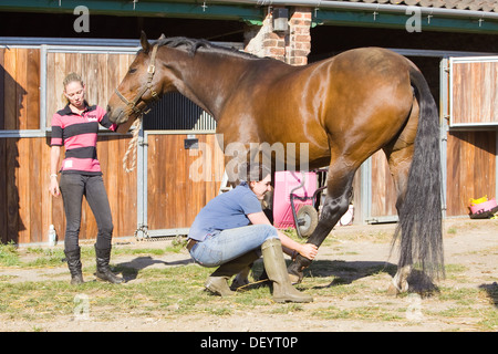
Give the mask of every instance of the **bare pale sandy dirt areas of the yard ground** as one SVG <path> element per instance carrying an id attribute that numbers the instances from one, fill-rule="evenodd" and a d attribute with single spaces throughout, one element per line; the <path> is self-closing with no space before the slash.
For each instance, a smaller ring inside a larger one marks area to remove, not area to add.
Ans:
<path id="1" fill-rule="evenodd" d="M 320 248 L 317 261 L 343 262 L 347 268 L 361 270 L 372 264 L 388 262 L 395 264 L 397 257 L 390 257 L 391 235 L 395 225 L 373 225 L 373 226 L 349 226 L 336 228 L 331 237 L 334 242 Z M 486 331 L 497 331 L 497 267 L 498 267 L 498 220 L 469 220 L 454 219 L 446 220 L 445 226 L 445 261 L 447 267 L 457 264 L 459 269 L 458 277 L 447 277 L 437 283 L 442 289 L 481 289 L 476 299 L 467 304 L 477 312 L 489 311 L 494 324 Z M 146 247 L 165 247 L 165 242 L 148 242 Z M 144 247 L 144 242 L 132 240 L 127 246 L 120 247 Z M 168 263 L 190 262 L 188 253 L 184 250 L 180 253 L 157 257 L 158 260 Z M 143 269 L 144 264 L 133 256 L 114 258 L 113 263 L 126 262 L 127 267 Z M 147 267 L 168 267 L 164 262 L 148 262 Z M 453 266 L 455 267 L 455 266 Z M 65 267 L 51 269 L 31 269 L 21 270 L 14 268 L 0 268 L 0 275 L 13 275 L 12 282 L 43 280 L 43 277 L 50 279 L 54 273 L 66 272 Z M 359 275 L 351 279 L 351 284 L 362 285 L 359 289 L 365 289 L 364 293 L 359 292 L 354 295 L 329 295 L 326 288 L 331 287 L 330 280 L 323 284 L 319 283 L 315 288 L 322 289 L 318 294 L 313 294 L 314 301 L 309 304 L 300 304 L 295 311 L 289 310 L 286 313 L 252 313 L 235 311 L 229 315 L 209 315 L 209 314 L 184 314 L 177 317 L 157 319 L 157 317 L 136 317 L 133 314 L 120 316 L 108 322 L 98 322 L 93 320 L 80 320 L 60 317 L 44 321 L 43 323 L 33 323 L 27 321 L 9 321 L 3 323 L 0 330 L 8 331 L 32 331 L 33 326 L 39 325 L 45 331 L 238 331 L 238 332 L 263 332 L 263 331 L 286 331 L 286 332 L 324 332 L 324 331 L 480 331 L 477 323 L 478 316 L 466 316 L 465 314 L 440 315 L 445 308 L 449 308 L 449 302 L 442 300 L 442 296 L 421 298 L 413 293 L 403 296 L 390 296 L 386 290 L 391 282 L 391 275 L 386 272 L 381 274 L 369 274 L 359 272 Z M 313 275 L 313 274 L 311 274 Z M 338 274 L 339 275 L 339 274 Z M 53 279 L 53 278 L 52 278 Z M 465 281 L 461 281 L 464 279 Z M 308 280 L 304 279 L 305 284 Z M 325 291 L 323 290 L 325 289 Z M 487 291 L 487 292 L 486 292 Z M 351 316 L 317 316 L 312 313 L 325 312 L 328 309 L 335 311 L 350 311 L 359 306 L 366 309 L 365 314 L 351 312 Z M 396 321 L 378 320 L 373 315 L 370 320 L 367 309 L 397 309 L 402 320 Z M 289 306 L 288 309 L 292 309 Z M 448 309 L 449 310 L 449 309 Z M 492 322 L 491 321 L 491 322 Z"/>

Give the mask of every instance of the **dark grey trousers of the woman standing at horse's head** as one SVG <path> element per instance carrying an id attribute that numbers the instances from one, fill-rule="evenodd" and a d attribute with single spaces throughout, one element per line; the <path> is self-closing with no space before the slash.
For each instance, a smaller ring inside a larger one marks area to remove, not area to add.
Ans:
<path id="1" fill-rule="evenodd" d="M 113 235 L 113 219 L 102 176 L 63 174 L 59 187 L 66 219 L 64 250 L 70 252 L 79 248 L 83 196 L 86 197 L 97 223 L 96 247 L 108 249 Z"/>

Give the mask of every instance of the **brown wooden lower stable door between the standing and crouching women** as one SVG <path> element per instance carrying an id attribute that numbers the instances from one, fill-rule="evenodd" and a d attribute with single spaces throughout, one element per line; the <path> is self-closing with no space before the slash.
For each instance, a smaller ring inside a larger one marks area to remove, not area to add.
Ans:
<path id="1" fill-rule="evenodd" d="M 185 134 L 148 135 L 147 222 L 149 230 L 188 228 L 218 195 L 224 155 L 214 134 L 197 134 L 199 149 L 185 149 Z"/>

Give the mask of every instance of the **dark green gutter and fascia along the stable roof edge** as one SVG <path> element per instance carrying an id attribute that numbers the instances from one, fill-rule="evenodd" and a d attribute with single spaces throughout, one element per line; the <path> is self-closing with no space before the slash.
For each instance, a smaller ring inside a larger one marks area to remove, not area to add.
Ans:
<path id="1" fill-rule="evenodd" d="M 412 15 L 428 31 L 498 33 L 498 12 L 404 4 L 328 0 L 79 0 L 90 13 L 211 20 L 262 24 L 266 8 L 304 7 L 313 10 L 312 25 L 331 24 L 401 29 Z M 356 0 L 357 1 L 357 0 Z M 371 1 L 371 0 L 369 0 Z M 54 0 L 1 0 L 0 11 L 72 13 L 75 2 Z"/>

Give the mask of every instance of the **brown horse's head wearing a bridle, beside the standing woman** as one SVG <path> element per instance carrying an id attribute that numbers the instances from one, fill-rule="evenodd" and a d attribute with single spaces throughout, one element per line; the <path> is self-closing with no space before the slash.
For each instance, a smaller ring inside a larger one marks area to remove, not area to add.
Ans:
<path id="1" fill-rule="evenodd" d="M 163 39 L 164 34 L 159 38 Z M 126 132 L 133 122 L 147 111 L 148 104 L 159 100 L 163 93 L 160 73 L 156 66 L 157 45 L 152 45 L 144 32 L 138 51 L 128 72 L 107 104 L 107 115 L 116 123 L 118 132 Z"/>

